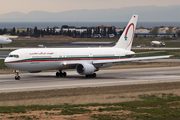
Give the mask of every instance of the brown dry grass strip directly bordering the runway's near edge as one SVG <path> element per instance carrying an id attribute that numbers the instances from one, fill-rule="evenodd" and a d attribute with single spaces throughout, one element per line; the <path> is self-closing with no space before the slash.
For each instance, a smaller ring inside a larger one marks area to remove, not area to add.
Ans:
<path id="1" fill-rule="evenodd" d="M 0 93 L 0 101 L 18 101 L 29 99 L 46 99 L 57 98 L 63 96 L 81 96 L 94 94 L 118 94 L 118 93 L 132 93 L 132 92 L 147 92 L 147 91 L 162 91 L 179 89 L 180 82 L 170 83 L 152 83 L 152 84 L 138 84 L 138 85 L 117 85 L 105 86 L 95 88 L 71 88 L 71 89 L 57 89 L 57 90 L 42 90 L 42 91 L 25 91 Z M 121 96 L 123 98 L 123 96 Z"/>

